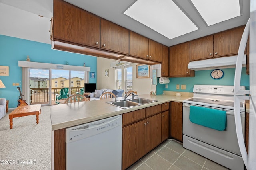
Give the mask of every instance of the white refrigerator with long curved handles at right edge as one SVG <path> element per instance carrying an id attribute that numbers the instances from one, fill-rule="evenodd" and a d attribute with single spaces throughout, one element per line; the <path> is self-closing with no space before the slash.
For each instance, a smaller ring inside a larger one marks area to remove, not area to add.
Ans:
<path id="1" fill-rule="evenodd" d="M 250 90 L 240 90 L 242 58 L 248 35 L 250 33 Z M 250 19 L 248 20 L 241 39 L 236 63 L 236 72 L 234 78 L 234 108 L 236 133 L 238 144 L 247 170 L 256 169 L 256 0 L 250 0 Z M 250 100 L 249 114 L 249 147 L 248 155 L 246 152 L 244 138 L 242 134 L 242 125 L 240 117 L 239 99 Z"/>

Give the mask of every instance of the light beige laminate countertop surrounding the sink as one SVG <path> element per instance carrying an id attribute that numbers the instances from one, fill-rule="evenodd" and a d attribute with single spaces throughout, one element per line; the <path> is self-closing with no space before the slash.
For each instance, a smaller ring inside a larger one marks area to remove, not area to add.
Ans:
<path id="1" fill-rule="evenodd" d="M 50 108 L 52 130 L 54 131 L 66 127 L 80 125 L 83 123 L 88 123 L 91 121 L 96 121 L 107 117 L 120 115 L 130 111 L 155 106 L 165 102 L 183 102 L 183 100 L 193 97 L 193 93 L 188 92 L 180 92 L 182 96 L 175 96 L 176 92 L 171 91 L 164 91 L 164 93 L 165 95 L 156 96 L 152 96 L 149 94 L 139 95 L 139 98 L 158 100 L 158 102 L 143 104 L 140 106 L 130 107 L 127 109 L 121 109 L 119 107 L 112 106 L 106 103 L 107 101 L 113 101 L 113 98 L 94 100 L 89 102 L 75 102 L 55 105 Z M 117 98 L 117 100 L 120 100 L 122 98 Z"/>

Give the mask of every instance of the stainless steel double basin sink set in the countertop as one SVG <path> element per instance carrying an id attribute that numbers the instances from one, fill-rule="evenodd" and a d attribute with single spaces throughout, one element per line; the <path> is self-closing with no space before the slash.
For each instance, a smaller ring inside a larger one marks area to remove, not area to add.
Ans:
<path id="1" fill-rule="evenodd" d="M 134 106 L 140 106 L 142 104 L 148 104 L 152 102 L 157 102 L 158 100 L 151 100 L 151 99 L 145 99 L 145 98 L 135 98 L 135 99 L 130 99 L 130 100 L 118 100 L 118 101 L 111 101 L 111 102 L 106 102 L 108 104 L 111 104 L 113 106 L 120 107 L 122 109 L 126 109 L 129 107 L 134 107 Z"/>

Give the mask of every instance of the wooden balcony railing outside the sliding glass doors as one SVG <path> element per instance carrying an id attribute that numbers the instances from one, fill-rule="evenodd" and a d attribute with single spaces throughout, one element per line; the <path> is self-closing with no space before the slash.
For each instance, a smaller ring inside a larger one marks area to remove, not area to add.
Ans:
<path id="1" fill-rule="evenodd" d="M 60 93 L 60 89 L 62 87 L 58 88 L 51 88 L 51 92 L 49 88 L 30 88 L 30 104 L 48 104 L 49 103 L 49 96 L 51 95 L 52 101 L 55 101 L 56 99 L 56 93 Z M 70 95 L 76 94 L 75 92 L 80 93 L 81 87 L 71 87 L 71 94 Z M 52 102 L 54 104 L 55 102 Z"/>

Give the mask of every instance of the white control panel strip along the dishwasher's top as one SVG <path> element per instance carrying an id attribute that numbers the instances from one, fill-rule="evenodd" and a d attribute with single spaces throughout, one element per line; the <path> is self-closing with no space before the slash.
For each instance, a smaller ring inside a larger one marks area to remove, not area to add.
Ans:
<path id="1" fill-rule="evenodd" d="M 66 128 L 66 143 L 78 141 L 122 126 L 122 115 Z"/>

